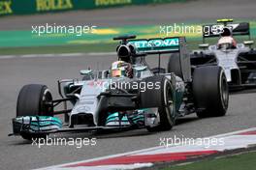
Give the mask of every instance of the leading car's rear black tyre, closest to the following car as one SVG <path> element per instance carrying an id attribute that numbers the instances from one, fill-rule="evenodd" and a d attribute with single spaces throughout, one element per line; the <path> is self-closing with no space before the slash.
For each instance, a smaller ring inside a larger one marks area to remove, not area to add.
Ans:
<path id="1" fill-rule="evenodd" d="M 196 68 L 192 82 L 199 118 L 224 116 L 229 104 L 229 89 L 224 71 L 218 66 Z"/>

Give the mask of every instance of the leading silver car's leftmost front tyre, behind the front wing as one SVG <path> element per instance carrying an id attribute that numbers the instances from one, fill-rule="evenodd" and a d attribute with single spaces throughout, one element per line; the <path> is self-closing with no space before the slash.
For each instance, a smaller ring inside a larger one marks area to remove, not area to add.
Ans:
<path id="1" fill-rule="evenodd" d="M 46 85 L 28 84 L 22 87 L 16 101 L 16 117 L 53 116 L 52 96 Z M 46 137 L 46 134 L 21 133 L 24 139 Z"/>

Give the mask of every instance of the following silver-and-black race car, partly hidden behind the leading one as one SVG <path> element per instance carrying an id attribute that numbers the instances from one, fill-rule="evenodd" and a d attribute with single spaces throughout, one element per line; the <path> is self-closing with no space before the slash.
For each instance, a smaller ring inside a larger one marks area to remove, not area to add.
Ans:
<path id="1" fill-rule="evenodd" d="M 256 50 L 251 48 L 249 23 L 231 23 L 233 19 L 219 19 L 217 24 L 203 26 L 200 50 L 191 54 L 192 68 L 220 66 L 225 71 L 231 90 L 256 87 Z M 237 43 L 233 36 L 248 36 Z M 207 38 L 219 37 L 218 43 L 208 45 Z"/>

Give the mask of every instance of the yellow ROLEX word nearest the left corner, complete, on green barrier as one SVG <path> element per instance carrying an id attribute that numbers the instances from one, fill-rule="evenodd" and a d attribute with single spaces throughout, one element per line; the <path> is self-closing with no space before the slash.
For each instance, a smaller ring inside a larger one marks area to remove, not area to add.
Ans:
<path id="1" fill-rule="evenodd" d="M 36 0 L 38 12 L 73 9 L 72 0 Z"/>

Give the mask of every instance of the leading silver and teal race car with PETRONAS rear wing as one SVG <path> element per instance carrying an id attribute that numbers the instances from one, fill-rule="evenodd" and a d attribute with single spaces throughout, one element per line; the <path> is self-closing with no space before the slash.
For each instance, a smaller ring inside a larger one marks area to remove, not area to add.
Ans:
<path id="1" fill-rule="evenodd" d="M 17 98 L 13 134 L 31 140 L 66 131 L 169 130 L 179 116 L 226 114 L 229 92 L 221 67 L 201 67 L 191 75 L 184 38 L 135 38 L 114 38 L 120 44 L 118 61 L 111 70 L 84 70 L 80 71 L 83 80 L 59 80 L 61 99 L 52 99 L 46 85 L 23 86 Z M 168 72 L 160 68 L 164 53 L 176 53 Z M 145 58 L 150 54 L 159 55 L 159 67 L 149 68 Z M 60 103 L 63 110 L 57 110 Z M 63 120 L 54 117 L 58 114 L 64 114 Z"/>

